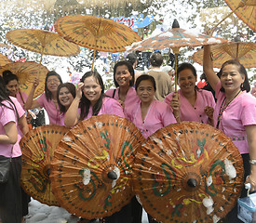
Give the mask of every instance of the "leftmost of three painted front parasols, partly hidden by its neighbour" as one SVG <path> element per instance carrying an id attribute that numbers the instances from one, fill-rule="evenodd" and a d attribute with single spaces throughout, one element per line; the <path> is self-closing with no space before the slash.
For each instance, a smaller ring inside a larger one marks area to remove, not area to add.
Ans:
<path id="1" fill-rule="evenodd" d="M 51 191 L 50 164 L 53 152 L 67 131 L 68 128 L 61 125 L 42 125 L 29 131 L 20 140 L 20 183 L 26 193 L 41 203 L 59 205 Z"/>

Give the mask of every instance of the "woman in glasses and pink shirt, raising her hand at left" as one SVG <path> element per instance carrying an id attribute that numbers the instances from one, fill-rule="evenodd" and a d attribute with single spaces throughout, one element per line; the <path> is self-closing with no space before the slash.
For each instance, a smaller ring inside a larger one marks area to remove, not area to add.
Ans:
<path id="1" fill-rule="evenodd" d="M 57 88 L 62 84 L 61 76 L 54 71 L 47 72 L 45 93 L 39 98 L 34 98 L 34 90 L 39 84 L 38 78 L 34 79 L 34 85 L 32 86 L 29 97 L 27 98 L 25 109 L 34 109 L 43 107 L 47 111 L 49 118 L 49 124 L 61 125 L 60 112 L 57 102 Z"/>

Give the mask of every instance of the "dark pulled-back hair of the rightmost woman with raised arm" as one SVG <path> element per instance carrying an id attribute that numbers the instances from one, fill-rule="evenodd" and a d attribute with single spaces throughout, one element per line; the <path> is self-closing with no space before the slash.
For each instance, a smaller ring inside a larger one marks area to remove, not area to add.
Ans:
<path id="1" fill-rule="evenodd" d="M 248 74 L 247 74 L 247 71 L 245 69 L 245 67 L 239 62 L 237 61 L 236 59 L 229 59 L 227 61 L 225 61 L 223 64 L 222 64 L 222 68 L 220 70 L 220 76 L 222 76 L 222 72 L 223 72 L 223 68 L 227 65 L 236 65 L 236 67 L 238 68 L 238 72 L 240 73 L 240 75 L 243 75 L 245 77 L 245 80 L 244 82 L 242 83 L 242 85 L 240 86 L 241 90 L 246 90 L 247 92 L 250 91 L 250 85 L 249 85 L 249 80 L 248 80 Z M 224 88 L 222 87 L 221 88 L 221 91 L 224 92 Z"/>

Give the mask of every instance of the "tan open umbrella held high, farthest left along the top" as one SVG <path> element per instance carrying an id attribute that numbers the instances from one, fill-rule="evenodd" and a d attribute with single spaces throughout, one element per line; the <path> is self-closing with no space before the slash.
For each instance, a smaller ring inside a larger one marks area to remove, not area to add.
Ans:
<path id="1" fill-rule="evenodd" d="M 15 46 L 43 55 L 71 57 L 80 53 L 79 46 L 64 40 L 57 33 L 35 29 L 17 29 L 7 32 L 7 40 Z"/>

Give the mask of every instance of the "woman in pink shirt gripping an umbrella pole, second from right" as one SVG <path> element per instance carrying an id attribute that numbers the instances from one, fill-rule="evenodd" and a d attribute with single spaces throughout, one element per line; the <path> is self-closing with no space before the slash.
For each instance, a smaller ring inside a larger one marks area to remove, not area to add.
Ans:
<path id="1" fill-rule="evenodd" d="M 182 63 L 178 67 L 177 78 L 180 90 L 168 94 L 165 98 L 176 120 L 213 125 L 215 100 L 211 92 L 196 87 L 195 67 L 190 63 Z"/>

